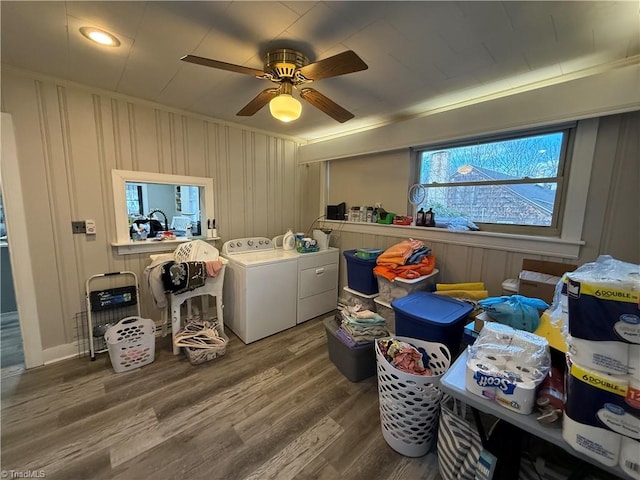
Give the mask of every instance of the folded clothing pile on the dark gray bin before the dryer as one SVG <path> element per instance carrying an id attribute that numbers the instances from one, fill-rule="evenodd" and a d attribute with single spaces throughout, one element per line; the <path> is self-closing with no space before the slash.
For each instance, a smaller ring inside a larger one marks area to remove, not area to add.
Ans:
<path id="1" fill-rule="evenodd" d="M 340 323 L 336 336 L 349 347 L 389 336 L 384 317 L 371 310 L 362 310 L 359 305 L 340 310 L 336 320 Z"/>

